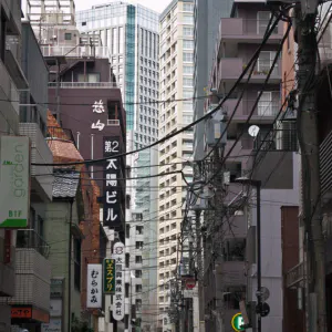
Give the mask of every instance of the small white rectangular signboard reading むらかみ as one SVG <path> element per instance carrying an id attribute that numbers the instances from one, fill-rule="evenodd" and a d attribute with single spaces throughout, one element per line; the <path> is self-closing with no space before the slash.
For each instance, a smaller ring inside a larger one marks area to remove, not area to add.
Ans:
<path id="1" fill-rule="evenodd" d="M 87 264 L 86 308 L 102 308 L 102 264 Z"/>

